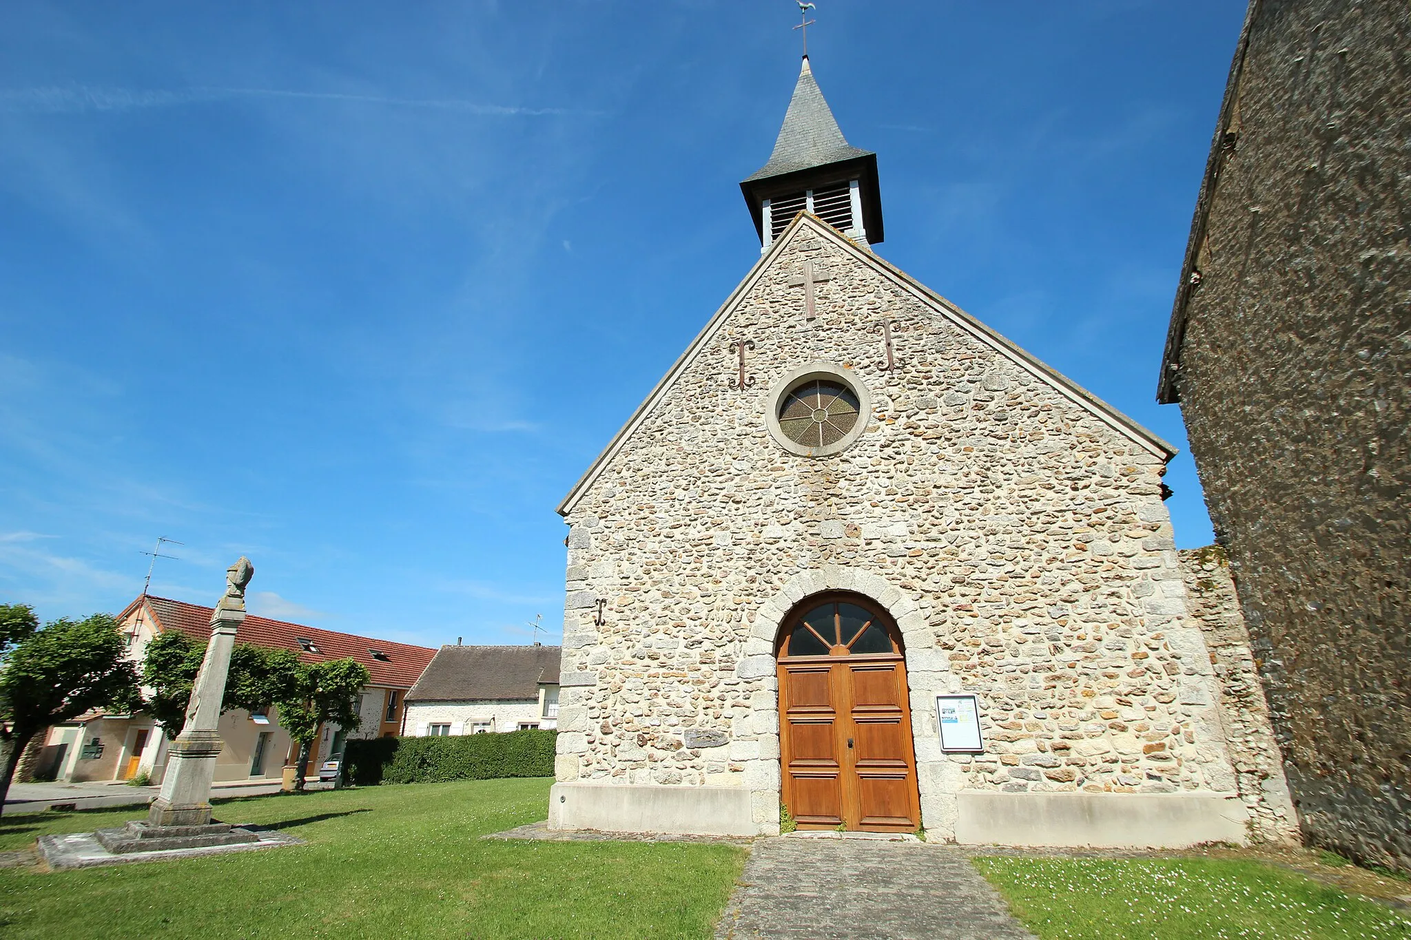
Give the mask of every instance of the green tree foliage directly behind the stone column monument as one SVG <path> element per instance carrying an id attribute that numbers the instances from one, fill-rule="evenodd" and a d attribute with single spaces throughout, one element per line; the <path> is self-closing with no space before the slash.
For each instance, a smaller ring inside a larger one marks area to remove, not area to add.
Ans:
<path id="1" fill-rule="evenodd" d="M 206 644 L 185 633 L 168 630 L 152 637 L 143 657 L 143 685 L 152 689 L 143 707 L 175 740 L 186 722 L 190 689 L 206 658 Z M 264 712 L 293 682 L 299 658 L 288 650 L 271 650 L 248 643 L 230 651 L 222 712 L 244 709 Z"/>

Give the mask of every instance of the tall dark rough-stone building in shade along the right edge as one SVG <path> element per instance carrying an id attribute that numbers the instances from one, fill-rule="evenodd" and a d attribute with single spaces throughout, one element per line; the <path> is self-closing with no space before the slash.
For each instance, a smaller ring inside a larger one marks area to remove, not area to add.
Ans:
<path id="1" fill-rule="evenodd" d="M 1254 0 L 1158 399 L 1180 402 L 1305 836 L 1411 870 L 1411 11 Z"/>

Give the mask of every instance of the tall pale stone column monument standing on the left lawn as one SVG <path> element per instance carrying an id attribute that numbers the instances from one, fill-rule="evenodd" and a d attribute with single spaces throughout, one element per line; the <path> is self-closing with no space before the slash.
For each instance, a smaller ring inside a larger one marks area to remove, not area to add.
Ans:
<path id="1" fill-rule="evenodd" d="M 210 823 L 210 782 L 223 746 L 216 726 L 220 720 L 220 702 L 226 695 L 226 672 L 230 669 L 230 651 L 236 645 L 236 629 L 246 619 L 246 585 L 254 574 L 255 568 L 246 557 L 226 571 L 226 593 L 210 614 L 210 643 L 190 691 L 186 724 L 172 741 L 162 792 L 152 800 L 147 816 L 151 827 Z"/>

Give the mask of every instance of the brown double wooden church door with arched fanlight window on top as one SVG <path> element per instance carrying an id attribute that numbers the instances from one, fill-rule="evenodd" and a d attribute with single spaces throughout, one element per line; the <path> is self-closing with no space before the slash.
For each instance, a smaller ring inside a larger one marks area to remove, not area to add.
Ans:
<path id="1" fill-rule="evenodd" d="M 889 833 L 921 824 L 902 634 L 861 595 L 803 600 L 779 658 L 783 800 L 799 829 Z"/>

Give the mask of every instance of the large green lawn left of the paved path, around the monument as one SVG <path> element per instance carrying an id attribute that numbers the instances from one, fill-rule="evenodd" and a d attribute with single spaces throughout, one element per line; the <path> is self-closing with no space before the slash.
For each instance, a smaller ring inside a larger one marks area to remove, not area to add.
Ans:
<path id="1" fill-rule="evenodd" d="M 18 937 L 708 937 L 745 853 L 683 843 L 481 840 L 546 815 L 549 779 L 254 796 L 223 822 L 306 846 L 40 874 L 0 870 Z M 140 816 L 0 819 L 0 850 Z"/>

